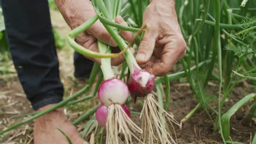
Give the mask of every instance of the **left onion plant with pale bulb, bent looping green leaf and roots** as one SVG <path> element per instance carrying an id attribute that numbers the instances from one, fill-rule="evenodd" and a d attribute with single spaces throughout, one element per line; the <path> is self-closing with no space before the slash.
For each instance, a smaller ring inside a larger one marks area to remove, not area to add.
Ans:
<path id="1" fill-rule="evenodd" d="M 104 17 L 98 14 L 97 16 L 92 17 L 90 20 L 86 21 L 79 27 L 73 29 L 73 31 L 69 33 L 67 36 L 68 44 L 75 51 L 87 57 L 101 58 L 101 70 L 103 73 L 104 81 L 98 88 L 98 99 L 101 101 L 101 105 L 98 106 L 96 110 L 96 119 L 102 127 L 106 127 L 106 143 L 119 143 L 121 140 L 119 137 L 119 133 L 122 133 L 124 135 L 124 140 L 126 143 L 132 142 L 132 137 L 135 137 L 139 141 L 139 139 L 136 137 L 134 133 L 142 133 L 142 130 L 131 121 L 130 111 L 125 105 L 125 102 L 129 96 L 129 89 L 123 81 L 115 79 L 111 67 L 110 58 L 119 57 L 120 55 L 123 55 L 123 53 L 129 49 L 129 47 L 127 46 L 127 48 L 123 49 L 119 53 L 111 53 L 111 47 L 98 40 L 99 52 L 94 52 L 85 49 L 83 46 L 80 46 L 79 44 L 75 43 L 75 41 L 72 38 L 74 38 L 79 33 L 82 33 L 90 26 L 92 26 L 98 20 L 98 18 L 104 21 L 102 22 L 103 24 L 108 23 L 108 25 L 135 31 L 136 28 L 124 27 L 115 24 L 113 25 L 113 22 L 109 21 L 110 19 L 114 19 L 114 17 L 116 17 L 117 14 L 119 14 L 120 7 L 122 5 L 122 3 L 120 2 L 121 1 L 114 2 L 115 8 L 110 7 L 110 4 L 112 2 L 108 2 L 108 8 L 112 8 L 113 10 L 108 11 L 103 1 L 97 1 L 97 7 L 102 9 L 102 13 L 107 14 L 107 19 L 103 19 Z M 94 1 L 92 1 L 92 3 L 94 3 L 95 5 Z M 104 5 L 103 8 L 101 4 Z M 95 7 L 96 11 L 97 7 Z M 111 13 L 108 14 L 108 12 Z"/>

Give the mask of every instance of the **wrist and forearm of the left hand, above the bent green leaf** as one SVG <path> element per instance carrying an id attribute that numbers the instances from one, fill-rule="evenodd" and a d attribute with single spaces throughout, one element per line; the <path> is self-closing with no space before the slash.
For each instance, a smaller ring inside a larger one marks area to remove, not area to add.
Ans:
<path id="1" fill-rule="evenodd" d="M 92 15 L 96 15 L 89 0 L 55 0 L 55 3 L 72 29 L 82 25 Z"/>

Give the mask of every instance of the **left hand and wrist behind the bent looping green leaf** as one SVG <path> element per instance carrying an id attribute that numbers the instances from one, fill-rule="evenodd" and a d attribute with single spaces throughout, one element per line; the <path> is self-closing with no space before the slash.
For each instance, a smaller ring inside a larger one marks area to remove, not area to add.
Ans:
<path id="1" fill-rule="evenodd" d="M 82 25 L 82 23 L 96 15 L 96 12 L 89 0 L 55 0 L 55 2 L 71 29 Z M 124 21 L 121 17 L 117 17 L 117 19 L 115 21 L 118 23 Z M 120 24 L 127 25 L 126 23 Z M 121 34 L 127 41 L 132 40 L 131 32 L 122 32 Z M 75 38 L 77 43 L 84 46 L 86 49 L 98 52 L 97 39 L 113 47 L 118 46 L 99 20 L 96 21 L 96 23 L 94 23 L 94 25 L 92 25 L 86 32 L 79 34 Z M 113 51 L 119 52 L 120 50 L 117 48 L 113 49 Z M 99 58 L 88 58 L 97 63 L 101 63 Z M 112 65 L 119 65 L 124 61 L 124 56 L 112 58 Z"/>

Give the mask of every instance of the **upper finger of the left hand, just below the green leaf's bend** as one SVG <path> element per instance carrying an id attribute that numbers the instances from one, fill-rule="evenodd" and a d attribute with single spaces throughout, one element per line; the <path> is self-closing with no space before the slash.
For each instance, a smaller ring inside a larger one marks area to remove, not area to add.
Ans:
<path id="1" fill-rule="evenodd" d="M 113 47 L 118 46 L 99 20 L 97 20 L 86 32 L 94 35 L 96 39 L 101 40 L 105 44 Z"/>

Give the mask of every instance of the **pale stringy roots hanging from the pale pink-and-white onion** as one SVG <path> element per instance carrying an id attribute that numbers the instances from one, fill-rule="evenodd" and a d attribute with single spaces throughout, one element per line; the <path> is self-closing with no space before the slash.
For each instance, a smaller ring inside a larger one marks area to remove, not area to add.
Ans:
<path id="1" fill-rule="evenodd" d="M 139 143 L 141 140 L 135 133 L 142 134 L 142 129 L 132 122 L 129 116 L 126 115 L 121 105 L 112 104 L 108 107 L 108 117 L 106 123 L 106 143 L 132 143 L 132 138 L 137 139 Z M 119 134 L 124 136 L 124 142 L 121 140 Z"/>

